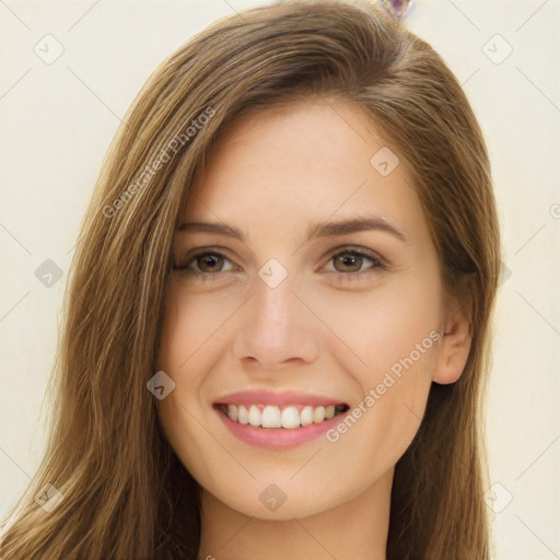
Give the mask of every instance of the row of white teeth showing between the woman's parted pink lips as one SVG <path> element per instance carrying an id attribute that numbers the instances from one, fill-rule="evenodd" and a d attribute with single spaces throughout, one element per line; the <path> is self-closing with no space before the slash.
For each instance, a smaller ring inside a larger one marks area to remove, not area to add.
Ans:
<path id="1" fill-rule="evenodd" d="M 294 430 L 311 424 L 320 424 L 338 415 L 346 412 L 349 406 L 328 405 L 289 405 L 279 407 L 276 405 L 234 405 L 217 404 L 214 408 L 220 410 L 230 420 L 240 424 L 262 429 Z"/>

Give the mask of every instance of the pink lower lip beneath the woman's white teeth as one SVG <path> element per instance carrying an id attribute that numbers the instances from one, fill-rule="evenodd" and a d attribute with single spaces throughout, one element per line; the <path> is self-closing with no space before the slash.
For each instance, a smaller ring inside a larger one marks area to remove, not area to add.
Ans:
<path id="1" fill-rule="evenodd" d="M 296 447 L 303 443 L 310 442 L 319 438 L 330 428 L 338 424 L 347 412 L 339 413 L 330 420 L 324 420 L 319 424 L 303 425 L 300 428 L 285 429 L 285 428 L 255 428 L 250 424 L 242 424 L 234 422 L 222 410 L 217 410 L 222 417 L 223 422 L 228 429 L 245 443 L 250 445 L 258 445 L 259 447 L 269 448 L 289 448 Z"/>

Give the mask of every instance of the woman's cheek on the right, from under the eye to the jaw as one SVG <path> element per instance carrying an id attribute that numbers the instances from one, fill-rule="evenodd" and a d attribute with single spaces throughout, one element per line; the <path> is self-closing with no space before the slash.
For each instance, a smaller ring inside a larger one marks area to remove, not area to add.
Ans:
<path id="1" fill-rule="evenodd" d="M 365 465 L 382 462 L 388 468 L 424 413 L 440 338 L 438 279 L 411 275 L 368 293 L 341 292 L 322 308 L 325 322 L 352 350 L 353 357 L 340 347 L 337 360 L 350 355 L 345 366 L 362 396 L 330 441 L 340 445 L 341 456 L 361 448 Z"/>

